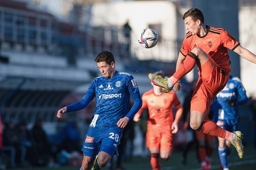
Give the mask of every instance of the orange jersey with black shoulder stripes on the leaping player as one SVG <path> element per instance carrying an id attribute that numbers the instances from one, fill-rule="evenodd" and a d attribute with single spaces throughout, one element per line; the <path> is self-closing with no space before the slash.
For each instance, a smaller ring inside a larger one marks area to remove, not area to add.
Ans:
<path id="1" fill-rule="evenodd" d="M 223 28 L 214 28 L 206 25 L 206 34 L 199 36 L 188 32 L 180 48 L 180 53 L 187 56 L 195 47 L 201 48 L 222 69 L 230 72 L 228 48 L 234 50 L 240 43 Z"/>

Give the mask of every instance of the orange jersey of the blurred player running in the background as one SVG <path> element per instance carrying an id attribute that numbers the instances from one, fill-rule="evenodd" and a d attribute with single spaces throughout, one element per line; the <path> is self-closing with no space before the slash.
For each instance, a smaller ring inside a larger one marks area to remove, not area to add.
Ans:
<path id="1" fill-rule="evenodd" d="M 173 122 L 172 105 L 178 106 L 180 101 L 174 91 L 156 96 L 153 89 L 142 95 L 142 107 L 137 114 L 148 108 L 148 125 L 171 125 Z"/>

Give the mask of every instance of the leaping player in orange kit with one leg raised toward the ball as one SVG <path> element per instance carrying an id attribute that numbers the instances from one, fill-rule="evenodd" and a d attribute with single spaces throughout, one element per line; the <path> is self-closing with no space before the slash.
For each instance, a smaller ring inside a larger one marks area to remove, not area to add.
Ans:
<path id="1" fill-rule="evenodd" d="M 204 24 L 204 15 L 198 8 L 184 13 L 183 19 L 188 33 L 185 35 L 176 64 L 176 72 L 171 77 L 161 78 L 154 74 L 148 77 L 164 92 L 180 90 L 180 79 L 198 66 L 198 81 L 190 107 L 192 129 L 229 140 L 235 146 L 240 158 L 244 157 L 241 131 L 226 131 L 204 116 L 211 102 L 227 84 L 231 71 L 228 48 L 241 57 L 256 64 L 256 55 L 240 46 L 240 43 L 223 28 Z"/>

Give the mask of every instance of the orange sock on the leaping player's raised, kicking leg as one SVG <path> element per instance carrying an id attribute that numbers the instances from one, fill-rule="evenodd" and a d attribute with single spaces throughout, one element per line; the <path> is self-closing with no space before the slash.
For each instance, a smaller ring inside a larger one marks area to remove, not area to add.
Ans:
<path id="1" fill-rule="evenodd" d="M 182 62 L 178 70 L 172 75 L 175 79 L 171 78 L 170 81 L 172 84 L 175 84 L 178 80 L 180 80 L 184 75 L 190 72 L 196 65 L 197 56 L 189 52 L 185 60 Z"/>

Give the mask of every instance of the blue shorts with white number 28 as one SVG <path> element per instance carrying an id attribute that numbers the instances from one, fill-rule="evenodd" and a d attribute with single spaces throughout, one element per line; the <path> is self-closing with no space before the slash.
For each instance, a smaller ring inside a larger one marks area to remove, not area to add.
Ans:
<path id="1" fill-rule="evenodd" d="M 117 147 L 120 144 L 122 134 L 123 129 L 121 128 L 103 130 L 89 127 L 83 142 L 83 155 L 95 158 L 101 151 L 107 152 L 111 156 L 115 153 L 118 155 Z"/>

